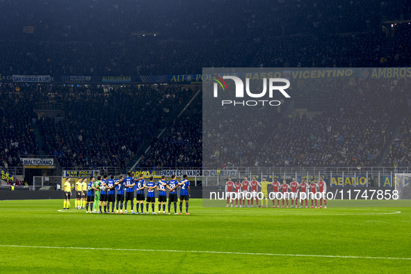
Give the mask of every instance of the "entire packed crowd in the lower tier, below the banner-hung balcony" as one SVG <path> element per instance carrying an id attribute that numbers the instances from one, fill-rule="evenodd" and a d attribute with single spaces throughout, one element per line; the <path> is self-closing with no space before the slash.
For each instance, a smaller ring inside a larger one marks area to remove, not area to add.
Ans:
<path id="1" fill-rule="evenodd" d="M 311 82 L 307 80 L 307 88 L 315 86 Z M 201 95 L 177 118 L 195 94 L 181 86 L 2 84 L 1 159 L 3 166 L 18 166 L 19 156 L 38 154 L 39 140 L 33 133 L 38 128 L 42 150 L 64 167 L 124 168 L 135 154 L 142 156 L 140 168 L 375 165 L 392 124 L 402 115 L 398 109 L 404 104 L 406 81 L 328 80 L 321 81 L 321 90 L 316 95 L 324 103 L 317 115 L 284 116 L 268 108 L 233 113 L 227 107 L 202 121 Z M 312 93 L 300 91 L 293 90 L 294 95 Z M 37 119 L 35 102 L 62 103 L 63 113 Z M 386 166 L 410 164 L 409 118 L 403 120 Z M 147 154 L 144 143 L 151 143 Z"/>

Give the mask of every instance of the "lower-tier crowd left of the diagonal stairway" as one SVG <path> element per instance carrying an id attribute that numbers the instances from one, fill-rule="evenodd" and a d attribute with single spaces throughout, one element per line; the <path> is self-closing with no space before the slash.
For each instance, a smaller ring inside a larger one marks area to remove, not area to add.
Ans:
<path id="1" fill-rule="evenodd" d="M 124 168 L 193 95 L 181 86 L 132 85 L 3 84 L 0 92 L 3 163 L 18 166 L 20 155 L 39 154 L 33 133 L 37 127 L 44 153 L 56 156 L 63 167 L 78 168 Z M 56 118 L 37 119 L 36 102 L 62 103 L 63 110 Z"/>

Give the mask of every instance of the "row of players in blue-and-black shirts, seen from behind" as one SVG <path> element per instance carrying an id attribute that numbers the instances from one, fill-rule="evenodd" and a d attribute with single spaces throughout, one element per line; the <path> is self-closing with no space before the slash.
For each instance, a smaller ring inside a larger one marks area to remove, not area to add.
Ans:
<path id="1" fill-rule="evenodd" d="M 190 182 L 187 179 L 187 175 L 184 175 L 181 181 L 177 181 L 175 175 L 172 175 L 169 181 L 166 181 L 164 176 L 156 183 L 153 179 L 153 177 L 150 177 L 150 181 L 146 182 L 143 174 L 140 174 L 140 177 L 135 179 L 131 176 L 131 172 L 128 172 L 126 178 L 120 176 L 120 179 L 114 179 L 113 175 L 108 179 L 107 175 L 104 175 L 103 179 L 101 176 L 98 176 L 97 181 L 95 181 L 95 177 L 90 177 L 86 191 L 84 191 L 83 183 L 81 179 L 79 179 L 79 182 L 76 183 L 76 209 L 86 208 L 86 213 L 110 213 L 111 203 L 111 213 L 119 213 L 119 207 L 120 213 L 123 213 L 122 208 L 124 202 L 124 213 L 127 213 L 127 204 L 128 201 L 130 201 L 131 214 L 148 214 L 150 204 L 152 214 L 156 214 L 154 211 L 154 203 L 156 202 L 154 191 L 158 190 L 159 214 L 161 213 L 161 207 L 163 214 L 166 214 L 166 190 L 168 190 L 168 214 L 170 214 L 170 207 L 173 202 L 174 212 L 177 215 L 177 188 L 180 188 L 180 215 L 183 214 L 182 207 L 184 200 L 186 201 L 186 215 L 190 215 L 190 213 L 188 213 Z M 147 197 L 145 197 L 145 188 L 147 188 Z M 136 211 L 134 211 L 134 191 L 136 191 Z M 84 204 L 85 200 L 86 204 Z M 144 212 L 144 200 L 146 201 L 146 212 Z M 97 204 L 99 211 L 96 211 Z M 88 210 L 89 206 L 90 211 Z M 104 211 L 102 211 L 102 207 L 104 207 Z M 116 207 L 116 211 L 114 211 L 114 207 Z"/>

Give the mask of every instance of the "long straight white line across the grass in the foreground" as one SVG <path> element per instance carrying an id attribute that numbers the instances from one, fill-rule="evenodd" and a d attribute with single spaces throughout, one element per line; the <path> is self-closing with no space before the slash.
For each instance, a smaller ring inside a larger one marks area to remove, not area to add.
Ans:
<path id="1" fill-rule="evenodd" d="M 325 257 L 325 258 L 347 258 L 347 259 L 405 259 L 401 257 L 371 257 L 371 256 L 342 256 L 342 255 L 305 255 L 305 254 L 276 254 L 276 253 L 248 253 L 248 252 L 224 252 L 224 251 L 200 251 L 200 250 L 155 250 L 155 249 L 127 249 L 127 248 L 75 248 L 71 246 L 30 246 L 30 245 L 0 245 L 3 248 L 51 248 L 51 249 L 77 249 L 77 250 L 112 250 L 112 251 L 142 251 L 142 252 L 182 252 L 182 253 L 209 253 L 230 255 L 265 255 L 284 257 Z"/>

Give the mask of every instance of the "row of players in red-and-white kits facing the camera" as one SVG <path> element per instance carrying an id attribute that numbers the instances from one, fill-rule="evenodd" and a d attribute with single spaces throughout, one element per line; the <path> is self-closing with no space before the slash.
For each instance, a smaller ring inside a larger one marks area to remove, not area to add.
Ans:
<path id="1" fill-rule="evenodd" d="M 268 195 L 267 186 L 273 186 L 273 195 Z M 262 197 L 259 198 L 258 188 L 261 188 Z M 280 191 L 281 189 L 281 191 Z M 291 189 L 291 193 L 289 190 Z M 301 205 L 300 208 L 303 208 L 303 203 L 305 200 L 305 208 L 308 207 L 308 198 L 311 198 L 311 207 L 315 201 L 315 208 L 317 208 L 317 200 L 320 200 L 320 209 L 323 206 L 327 208 L 327 201 L 325 200 L 325 192 L 327 191 L 327 184 L 324 182 L 324 178 L 320 177 L 318 183 L 314 183 L 314 180 L 311 179 L 309 184 L 305 182 L 305 179 L 301 179 L 301 183 L 296 182 L 296 178 L 292 179 L 290 184 L 287 184 L 286 180 L 282 180 L 282 184 L 278 182 L 278 179 L 275 178 L 274 182 L 267 182 L 266 177 L 263 177 L 262 182 L 258 182 L 256 177 L 252 177 L 252 181 L 248 181 L 248 177 L 245 176 L 243 182 L 239 182 L 237 179 L 236 182 L 232 182 L 232 178 L 228 178 L 228 182 L 225 183 L 225 195 L 227 198 L 227 206 L 229 207 L 229 201 L 231 200 L 231 207 L 233 207 L 233 201 L 236 200 L 235 207 L 245 207 L 245 200 L 248 202 L 248 207 L 253 207 L 253 202 L 256 200 L 257 207 L 264 206 L 264 200 L 266 201 L 266 207 L 268 207 L 268 198 L 273 201 L 273 206 L 275 207 L 275 200 L 277 200 L 277 207 L 280 208 L 280 200 L 282 200 L 282 208 L 284 208 L 284 200 L 287 201 L 287 208 L 289 208 L 289 200 L 291 200 L 291 208 L 293 207 L 293 202 L 296 202 L 296 208 L 298 207 L 298 190 L 300 190 L 300 199 Z M 308 191 L 309 190 L 309 191 Z M 318 193 L 317 193 L 318 190 Z M 235 193 L 236 195 L 232 195 Z M 250 193 L 251 195 L 248 195 Z M 278 195 L 282 193 L 282 195 Z M 304 195 L 305 193 L 305 195 Z M 232 199 L 234 197 L 234 199 Z M 250 199 L 248 198 L 250 197 Z M 250 206 L 251 200 L 251 206 Z M 258 204 L 261 200 L 261 205 Z M 240 203 L 240 204 L 239 204 Z M 242 203 L 242 204 L 241 204 Z"/>

